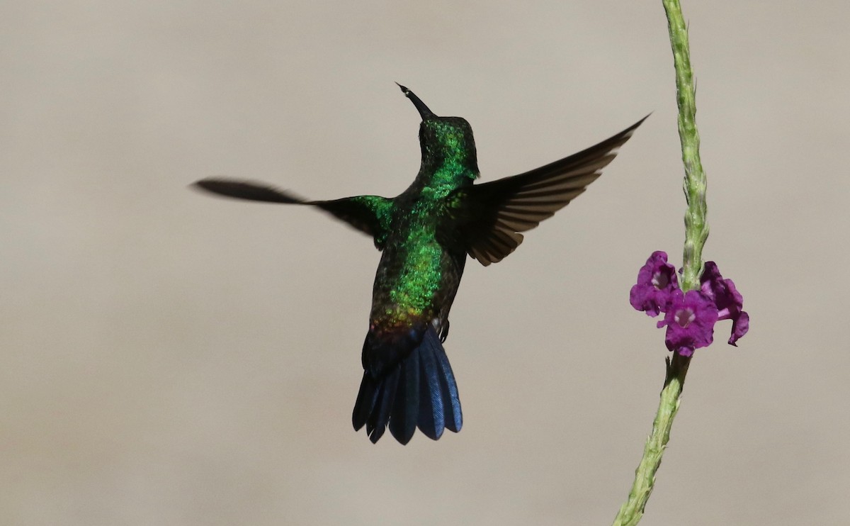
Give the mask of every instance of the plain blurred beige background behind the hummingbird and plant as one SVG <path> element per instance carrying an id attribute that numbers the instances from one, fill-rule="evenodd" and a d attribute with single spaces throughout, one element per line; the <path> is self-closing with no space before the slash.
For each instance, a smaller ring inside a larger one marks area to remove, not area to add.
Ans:
<path id="1" fill-rule="evenodd" d="M 697 353 L 645 524 L 827 524 L 850 495 L 850 4 L 685 2 L 716 260 L 751 332 Z M 660 2 L 0 4 L 0 523 L 605 524 L 664 378 L 628 292 L 681 264 Z M 394 196 L 416 110 L 482 180 L 653 114 L 604 176 L 467 272 L 446 342 L 462 432 L 350 415 L 379 253 L 269 181 Z"/>

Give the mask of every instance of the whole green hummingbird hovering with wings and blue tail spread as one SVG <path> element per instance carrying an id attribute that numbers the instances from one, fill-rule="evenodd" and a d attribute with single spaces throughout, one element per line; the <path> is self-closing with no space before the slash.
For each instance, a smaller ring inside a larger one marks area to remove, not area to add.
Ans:
<path id="1" fill-rule="evenodd" d="M 419 111 L 422 165 L 396 197 L 313 201 L 250 180 L 207 178 L 195 186 L 249 201 L 308 205 L 372 238 L 381 251 L 372 287 L 363 378 L 354 430 L 372 443 L 386 429 L 399 443 L 416 428 L 437 440 L 463 425 L 455 375 L 443 343 L 467 256 L 501 261 L 526 232 L 564 208 L 597 180 L 647 117 L 595 146 L 541 168 L 473 184 L 479 177 L 473 130 L 461 117 L 438 117 L 398 84 Z"/>

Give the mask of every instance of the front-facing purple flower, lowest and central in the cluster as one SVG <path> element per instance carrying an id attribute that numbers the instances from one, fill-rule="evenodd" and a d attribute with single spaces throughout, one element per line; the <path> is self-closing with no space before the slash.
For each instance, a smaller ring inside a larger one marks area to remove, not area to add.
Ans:
<path id="1" fill-rule="evenodd" d="M 677 289 L 671 294 L 666 315 L 658 328 L 667 326 L 664 336 L 667 349 L 691 356 L 694 349 L 711 345 L 716 322 L 717 307 L 710 298 L 698 290 L 683 293 Z"/>

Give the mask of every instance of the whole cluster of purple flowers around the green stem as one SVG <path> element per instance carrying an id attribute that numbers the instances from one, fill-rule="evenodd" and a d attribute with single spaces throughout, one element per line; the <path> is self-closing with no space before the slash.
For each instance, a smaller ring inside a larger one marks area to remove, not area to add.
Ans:
<path id="1" fill-rule="evenodd" d="M 632 287 L 629 302 L 638 311 L 655 317 L 664 312 L 658 328 L 666 326 L 667 349 L 691 356 L 694 349 L 711 345 L 714 324 L 732 320 L 729 345 L 746 334 L 750 315 L 742 310 L 744 298 L 731 279 L 723 279 L 714 261 L 706 261 L 700 277 L 700 289 L 679 289 L 676 268 L 667 263 L 665 252 L 654 252 L 638 272 L 638 283 Z"/>

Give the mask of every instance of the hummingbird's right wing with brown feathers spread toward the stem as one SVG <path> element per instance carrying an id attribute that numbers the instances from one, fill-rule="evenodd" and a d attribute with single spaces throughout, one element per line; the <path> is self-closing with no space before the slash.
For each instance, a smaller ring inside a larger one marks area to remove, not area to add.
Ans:
<path id="1" fill-rule="evenodd" d="M 446 208 L 456 220 L 467 253 L 484 266 L 512 253 L 523 242 L 519 232 L 539 225 L 584 192 L 647 117 L 570 157 L 452 192 Z"/>

